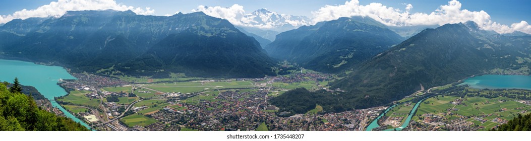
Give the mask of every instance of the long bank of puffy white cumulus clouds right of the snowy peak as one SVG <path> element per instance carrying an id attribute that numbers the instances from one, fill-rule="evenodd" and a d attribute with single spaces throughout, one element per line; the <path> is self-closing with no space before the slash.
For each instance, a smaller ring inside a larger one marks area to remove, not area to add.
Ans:
<path id="1" fill-rule="evenodd" d="M 479 27 L 485 30 L 493 30 L 498 33 L 512 33 L 521 31 L 530 34 L 531 25 L 526 21 L 503 25 L 491 20 L 491 16 L 485 11 L 468 11 L 461 9 L 461 3 L 457 0 L 448 2 L 447 5 L 441 5 L 435 11 L 427 13 L 409 13 L 413 8 L 411 4 L 406 5 L 405 11 L 399 8 L 388 7 L 381 3 L 370 3 L 368 5 L 359 5 L 358 0 L 345 2 L 344 5 L 326 5 L 319 8 L 318 11 L 312 12 L 314 22 L 335 20 L 339 17 L 349 16 L 369 16 L 383 24 L 390 26 L 410 26 L 410 25 L 433 25 L 459 23 L 474 21 Z"/>

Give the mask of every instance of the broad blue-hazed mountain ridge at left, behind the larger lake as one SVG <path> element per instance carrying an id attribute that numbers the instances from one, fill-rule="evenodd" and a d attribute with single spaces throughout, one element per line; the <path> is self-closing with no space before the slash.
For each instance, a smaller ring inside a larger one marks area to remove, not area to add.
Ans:
<path id="1" fill-rule="evenodd" d="M 11 22 L 0 27 L 0 37 L 12 40 L 0 42 L 0 52 L 4 52 L 5 57 L 26 58 L 33 61 L 53 62 L 73 68 L 74 71 L 86 71 L 100 74 L 115 75 L 138 75 L 148 74 L 153 68 L 137 66 L 132 70 L 124 65 L 131 64 L 135 58 L 143 54 L 150 54 L 153 46 L 158 48 L 171 49 L 174 46 L 159 43 L 174 42 L 179 40 L 183 46 L 195 47 L 196 42 L 205 41 L 207 43 L 227 43 L 216 45 L 201 45 L 201 48 L 216 48 L 224 46 L 226 48 L 239 48 L 242 50 L 217 50 L 220 54 L 211 52 L 210 58 L 216 60 L 217 55 L 241 55 L 250 58 L 247 60 L 232 60 L 239 58 L 225 59 L 231 62 L 244 62 L 241 65 L 231 66 L 231 69 L 209 69 L 196 70 L 188 66 L 176 64 L 164 64 L 164 67 L 157 67 L 158 77 L 168 76 L 169 73 L 187 73 L 202 76 L 204 74 L 223 74 L 222 77 L 252 76 L 263 77 L 265 75 L 275 75 L 271 69 L 264 71 L 247 71 L 247 68 L 267 68 L 275 63 L 271 61 L 252 37 L 246 36 L 226 20 L 205 15 L 202 12 L 190 14 L 177 13 L 172 16 L 146 16 L 136 15 L 132 11 L 68 11 L 61 17 L 51 18 L 44 21 L 35 20 L 15 20 L 25 22 L 24 25 L 34 25 L 31 30 L 24 28 L 19 31 L 28 31 L 25 34 L 14 34 L 8 28 Z M 28 26 L 30 27 L 30 26 Z M 7 30 L 6 30 L 7 29 Z M 181 36 L 176 36 L 181 35 Z M 183 37 L 185 35 L 186 37 Z M 188 38 L 180 40 L 179 37 Z M 200 40 L 196 40 L 200 39 Z M 219 40 L 219 41 L 215 41 Z M 231 41 L 228 41 L 231 40 Z M 234 43 L 236 41 L 247 41 L 245 44 Z M 175 42 L 174 42 L 175 43 Z M 229 44 L 234 43 L 234 44 Z M 162 46 L 165 45 L 165 46 Z M 199 47 L 199 46 L 198 46 Z M 219 48 L 217 48 L 219 49 Z M 247 52 L 243 52 L 243 50 Z M 252 51 L 250 51 L 252 50 Z M 173 51 L 173 50 L 172 50 Z M 179 50 L 175 54 L 168 56 L 175 57 L 177 54 L 186 56 L 200 56 L 202 52 L 188 52 L 190 50 Z M 227 51 L 227 52 L 225 52 Z M 165 58 L 165 56 L 158 56 Z M 180 57 L 180 56 L 177 56 Z M 249 60 L 253 60 L 250 62 Z M 218 62 L 221 64 L 230 62 Z M 252 64 L 245 64 L 252 63 Z M 201 65 L 194 64 L 194 68 Z M 251 67 L 250 67 L 251 66 Z M 169 69 L 172 68 L 172 69 Z M 269 70 L 269 72 L 268 72 Z M 143 73 L 135 73 L 143 72 Z M 203 73 L 196 73 L 203 72 Z M 249 73 L 247 75 L 236 75 L 238 72 Z M 211 75 L 210 75 L 211 76 Z"/>

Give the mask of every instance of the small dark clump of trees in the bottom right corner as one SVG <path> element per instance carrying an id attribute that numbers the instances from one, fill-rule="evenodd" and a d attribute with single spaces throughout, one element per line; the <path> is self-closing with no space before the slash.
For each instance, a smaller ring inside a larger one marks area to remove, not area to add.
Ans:
<path id="1" fill-rule="evenodd" d="M 522 116 L 518 114 L 512 120 L 509 120 L 507 124 L 500 125 L 498 128 L 494 128 L 495 131 L 530 131 L 531 130 L 531 114 Z"/>

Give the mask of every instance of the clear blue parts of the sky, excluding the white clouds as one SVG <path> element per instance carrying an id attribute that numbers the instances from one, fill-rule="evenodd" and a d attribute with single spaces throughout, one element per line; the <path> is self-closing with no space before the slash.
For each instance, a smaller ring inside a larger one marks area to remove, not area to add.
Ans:
<path id="1" fill-rule="evenodd" d="M 56 1 L 56 0 L 54 0 Z M 0 1 L 0 15 L 12 14 L 15 11 L 20 11 L 24 8 L 31 10 L 41 5 L 46 5 L 52 0 L 18 0 L 18 1 Z M 258 0 L 258 1 L 242 1 L 242 0 L 207 0 L 207 1 L 165 1 L 165 0 L 116 0 L 117 3 L 122 3 L 127 6 L 134 7 L 151 7 L 155 10 L 155 15 L 173 14 L 177 11 L 189 13 L 199 5 L 205 6 L 222 6 L 229 7 L 234 4 L 242 5 L 246 12 L 251 13 L 259 8 L 268 8 L 270 11 L 277 13 L 285 13 L 292 15 L 312 16 L 312 11 L 318 10 L 324 5 L 341 5 L 345 0 L 331 0 L 331 1 L 303 1 L 303 0 Z M 463 9 L 469 11 L 485 11 L 489 13 L 493 21 L 502 24 L 512 24 L 520 21 L 531 21 L 531 1 L 501 1 L 501 0 L 464 0 L 460 1 L 463 4 Z M 404 9 L 405 5 L 402 3 L 409 3 L 413 5 L 410 12 L 430 13 L 436 10 L 440 5 L 447 4 L 448 1 L 404 1 L 404 0 L 376 0 L 365 1 L 360 0 L 361 5 L 369 3 L 382 3 L 383 5 Z"/>

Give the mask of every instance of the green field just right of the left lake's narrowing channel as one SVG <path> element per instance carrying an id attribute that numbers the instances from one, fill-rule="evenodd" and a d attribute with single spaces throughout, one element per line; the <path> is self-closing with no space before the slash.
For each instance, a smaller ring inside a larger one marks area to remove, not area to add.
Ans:
<path id="1" fill-rule="evenodd" d="M 70 91 L 70 94 L 64 96 L 62 99 L 57 99 L 57 101 L 70 102 L 78 105 L 87 105 L 89 107 L 98 107 L 100 99 L 91 99 L 85 96 L 86 93 L 90 91 Z"/>

